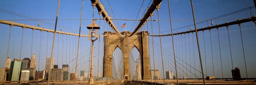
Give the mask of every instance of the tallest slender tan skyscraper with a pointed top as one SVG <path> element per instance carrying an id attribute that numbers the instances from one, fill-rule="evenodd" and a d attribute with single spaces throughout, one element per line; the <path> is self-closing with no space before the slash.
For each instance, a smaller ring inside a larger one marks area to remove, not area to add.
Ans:
<path id="1" fill-rule="evenodd" d="M 33 81 L 35 78 L 35 68 L 37 67 L 37 61 L 35 60 L 35 53 L 31 56 L 30 61 L 30 74 L 29 74 L 29 80 Z"/>

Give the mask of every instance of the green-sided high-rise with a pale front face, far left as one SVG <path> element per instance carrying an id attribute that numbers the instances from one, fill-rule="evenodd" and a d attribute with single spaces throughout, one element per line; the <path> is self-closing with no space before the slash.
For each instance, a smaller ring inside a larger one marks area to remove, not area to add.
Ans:
<path id="1" fill-rule="evenodd" d="M 22 62 L 20 61 L 20 59 L 15 58 L 10 65 L 10 71 L 9 71 L 9 81 L 19 81 L 19 74 L 21 71 L 21 65 Z M 14 82 L 17 83 L 17 82 Z"/>

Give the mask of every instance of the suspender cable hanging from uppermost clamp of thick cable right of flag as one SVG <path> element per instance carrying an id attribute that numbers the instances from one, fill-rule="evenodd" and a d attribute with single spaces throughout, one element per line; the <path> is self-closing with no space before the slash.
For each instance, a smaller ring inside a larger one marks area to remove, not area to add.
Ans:
<path id="1" fill-rule="evenodd" d="M 159 22 L 159 8 L 160 5 L 156 6 L 157 8 L 157 17 L 158 17 L 158 28 L 159 28 L 159 38 L 160 38 L 160 46 L 161 46 L 161 57 L 162 57 L 162 67 L 163 67 L 163 54 L 162 54 L 162 43 L 161 43 L 161 34 L 160 34 L 160 22 Z M 163 67 L 163 83 L 165 84 L 165 72 L 164 72 L 164 67 Z"/>

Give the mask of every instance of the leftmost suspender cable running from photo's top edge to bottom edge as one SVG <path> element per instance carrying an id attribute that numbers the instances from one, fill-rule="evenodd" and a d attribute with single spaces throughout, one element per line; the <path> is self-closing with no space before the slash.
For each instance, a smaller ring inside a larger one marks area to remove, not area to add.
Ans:
<path id="1" fill-rule="evenodd" d="M 50 67 L 52 66 L 51 64 L 53 62 L 52 58 L 53 58 L 54 40 L 55 40 L 55 35 L 56 35 L 56 27 L 57 27 L 58 14 L 59 14 L 59 2 L 60 2 L 60 0 L 58 1 L 58 8 L 57 8 L 57 14 L 56 14 L 56 21 L 55 21 L 55 28 L 54 28 L 54 33 L 53 33 L 53 46 L 52 46 Z M 49 74 L 51 74 L 51 71 L 49 71 Z M 48 78 L 48 81 L 47 81 L 47 85 L 49 85 L 49 78 Z"/>

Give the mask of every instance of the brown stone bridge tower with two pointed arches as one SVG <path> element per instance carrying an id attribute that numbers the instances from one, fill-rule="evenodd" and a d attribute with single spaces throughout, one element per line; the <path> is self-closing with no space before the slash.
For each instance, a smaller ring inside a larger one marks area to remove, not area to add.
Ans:
<path id="1" fill-rule="evenodd" d="M 107 35 L 106 35 L 107 34 Z M 123 35 L 130 35 L 131 32 L 122 32 Z M 118 47 L 124 56 L 124 79 L 129 80 L 129 54 L 133 47 L 137 48 L 141 56 L 141 77 L 143 80 L 150 79 L 150 59 L 148 53 L 148 32 L 142 31 L 133 36 L 120 37 L 117 33 L 104 32 L 104 57 L 103 77 L 112 78 L 112 56 Z"/>

